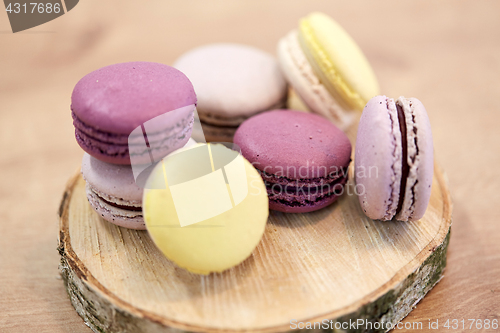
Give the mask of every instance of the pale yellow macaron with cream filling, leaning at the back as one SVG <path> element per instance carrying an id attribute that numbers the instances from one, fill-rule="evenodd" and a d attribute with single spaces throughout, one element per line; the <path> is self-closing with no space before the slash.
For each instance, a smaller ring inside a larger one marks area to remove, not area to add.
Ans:
<path id="1" fill-rule="evenodd" d="M 359 118 L 379 85 L 365 55 L 332 18 L 312 13 L 278 43 L 278 59 L 288 82 L 309 111 L 342 130 Z"/>

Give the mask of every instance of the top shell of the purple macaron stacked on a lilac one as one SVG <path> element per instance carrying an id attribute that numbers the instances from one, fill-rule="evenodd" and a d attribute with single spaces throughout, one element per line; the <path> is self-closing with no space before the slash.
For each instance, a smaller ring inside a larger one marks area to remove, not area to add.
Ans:
<path id="1" fill-rule="evenodd" d="M 100 68 L 75 86 L 71 109 L 96 130 L 130 134 L 165 112 L 196 104 L 189 79 L 179 70 L 153 62 Z"/>

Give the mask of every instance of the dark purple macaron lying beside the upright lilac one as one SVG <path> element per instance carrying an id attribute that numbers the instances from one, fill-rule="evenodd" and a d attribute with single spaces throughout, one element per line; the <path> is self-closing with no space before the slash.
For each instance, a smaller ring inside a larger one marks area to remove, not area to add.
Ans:
<path id="1" fill-rule="evenodd" d="M 264 180 L 270 209 L 311 212 L 332 204 L 344 191 L 351 143 L 319 115 L 264 112 L 241 124 L 234 143 Z"/>

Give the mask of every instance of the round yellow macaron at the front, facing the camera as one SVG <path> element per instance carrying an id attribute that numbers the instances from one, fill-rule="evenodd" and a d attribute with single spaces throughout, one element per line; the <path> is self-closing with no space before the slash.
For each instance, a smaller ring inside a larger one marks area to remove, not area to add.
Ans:
<path id="1" fill-rule="evenodd" d="M 259 173 L 222 144 L 198 144 L 163 159 L 148 178 L 143 203 L 156 246 L 197 274 L 248 258 L 269 215 Z"/>

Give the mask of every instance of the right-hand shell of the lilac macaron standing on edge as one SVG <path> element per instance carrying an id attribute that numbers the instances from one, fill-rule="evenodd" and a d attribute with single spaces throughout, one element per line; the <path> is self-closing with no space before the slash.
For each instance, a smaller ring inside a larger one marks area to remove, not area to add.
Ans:
<path id="1" fill-rule="evenodd" d="M 424 105 L 416 98 L 399 97 L 403 106 L 408 133 L 409 175 L 401 211 L 396 219 L 421 219 L 429 204 L 434 175 L 434 147 L 431 125 Z"/>

